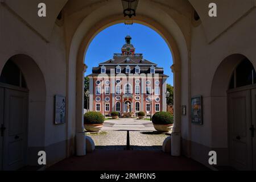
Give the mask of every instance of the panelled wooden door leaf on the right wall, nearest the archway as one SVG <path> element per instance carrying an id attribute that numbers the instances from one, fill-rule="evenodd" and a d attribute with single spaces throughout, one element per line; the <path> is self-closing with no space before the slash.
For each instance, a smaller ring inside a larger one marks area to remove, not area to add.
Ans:
<path id="1" fill-rule="evenodd" d="M 253 168 L 250 90 L 229 94 L 229 156 L 232 167 Z"/>

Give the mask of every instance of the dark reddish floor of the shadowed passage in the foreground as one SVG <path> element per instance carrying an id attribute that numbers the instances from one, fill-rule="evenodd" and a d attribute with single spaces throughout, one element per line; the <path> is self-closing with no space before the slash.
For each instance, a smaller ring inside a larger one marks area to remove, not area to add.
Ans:
<path id="1" fill-rule="evenodd" d="M 201 171 L 210 170 L 195 160 L 175 157 L 162 151 L 96 150 L 85 156 L 72 156 L 47 171 Z"/>

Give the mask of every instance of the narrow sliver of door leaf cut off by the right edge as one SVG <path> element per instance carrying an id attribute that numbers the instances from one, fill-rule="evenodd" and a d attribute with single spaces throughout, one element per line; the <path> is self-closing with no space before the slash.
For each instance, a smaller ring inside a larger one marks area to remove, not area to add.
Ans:
<path id="1" fill-rule="evenodd" d="M 251 137 L 253 137 L 253 169 L 256 170 L 256 89 L 251 90 Z"/>

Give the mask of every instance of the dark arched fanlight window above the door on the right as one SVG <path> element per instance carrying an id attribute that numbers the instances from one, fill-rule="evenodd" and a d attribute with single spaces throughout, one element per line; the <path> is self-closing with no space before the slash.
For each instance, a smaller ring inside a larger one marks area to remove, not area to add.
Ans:
<path id="1" fill-rule="evenodd" d="M 253 84 L 256 84 L 255 69 L 253 64 L 248 59 L 245 59 L 234 70 L 229 82 L 229 89 Z"/>

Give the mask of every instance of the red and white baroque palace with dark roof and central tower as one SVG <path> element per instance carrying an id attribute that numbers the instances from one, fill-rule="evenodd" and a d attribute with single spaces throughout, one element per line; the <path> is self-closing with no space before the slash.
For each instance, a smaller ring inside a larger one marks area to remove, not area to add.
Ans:
<path id="1" fill-rule="evenodd" d="M 130 36 L 125 40 L 122 53 L 114 53 L 113 59 L 94 67 L 88 76 L 90 111 L 104 115 L 166 111 L 168 76 L 142 53 L 135 53 Z"/>

